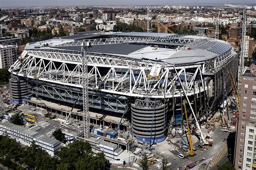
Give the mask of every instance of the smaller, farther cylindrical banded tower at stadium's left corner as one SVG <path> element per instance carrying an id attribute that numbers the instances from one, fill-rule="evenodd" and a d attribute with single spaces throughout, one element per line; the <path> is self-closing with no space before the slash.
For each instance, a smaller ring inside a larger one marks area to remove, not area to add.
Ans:
<path id="1" fill-rule="evenodd" d="M 28 83 L 17 76 L 12 75 L 10 81 L 11 102 L 22 104 L 23 98 L 29 95 Z"/>

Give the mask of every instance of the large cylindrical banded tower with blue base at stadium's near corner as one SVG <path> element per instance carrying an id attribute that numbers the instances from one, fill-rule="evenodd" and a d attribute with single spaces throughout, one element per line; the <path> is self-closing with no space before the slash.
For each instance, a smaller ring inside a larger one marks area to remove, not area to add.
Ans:
<path id="1" fill-rule="evenodd" d="M 131 104 L 133 136 L 144 143 L 164 141 L 166 138 L 167 111 L 167 102 L 164 104 L 161 100 L 136 98 Z"/>

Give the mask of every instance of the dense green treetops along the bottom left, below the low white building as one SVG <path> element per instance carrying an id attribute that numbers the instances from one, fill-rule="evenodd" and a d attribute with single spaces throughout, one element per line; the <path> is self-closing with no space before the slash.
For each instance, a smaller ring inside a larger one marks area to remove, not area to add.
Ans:
<path id="1" fill-rule="evenodd" d="M 21 147 L 15 139 L 8 136 L 0 136 L 0 143 L 0 162 L 5 166 L 12 166 L 13 169 L 24 169 L 25 166 L 28 166 L 28 169 L 104 169 L 106 167 L 104 154 L 93 153 L 91 145 L 84 141 L 74 141 L 62 147 L 55 157 L 51 157 L 35 143 Z"/>

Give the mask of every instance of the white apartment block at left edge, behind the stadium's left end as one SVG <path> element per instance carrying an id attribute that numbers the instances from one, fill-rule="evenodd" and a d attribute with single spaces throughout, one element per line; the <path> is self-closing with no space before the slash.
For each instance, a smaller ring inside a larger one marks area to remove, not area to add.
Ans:
<path id="1" fill-rule="evenodd" d="M 0 68 L 9 68 L 17 60 L 17 46 L 0 44 Z"/>

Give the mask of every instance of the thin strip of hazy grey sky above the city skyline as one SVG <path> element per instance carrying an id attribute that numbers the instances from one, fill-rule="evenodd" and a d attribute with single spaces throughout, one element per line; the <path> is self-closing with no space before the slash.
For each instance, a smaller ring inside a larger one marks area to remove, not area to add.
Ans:
<path id="1" fill-rule="evenodd" d="M 224 3 L 252 4 L 254 0 L 0 0 L 0 8 L 11 6 L 56 5 L 221 5 Z"/>

